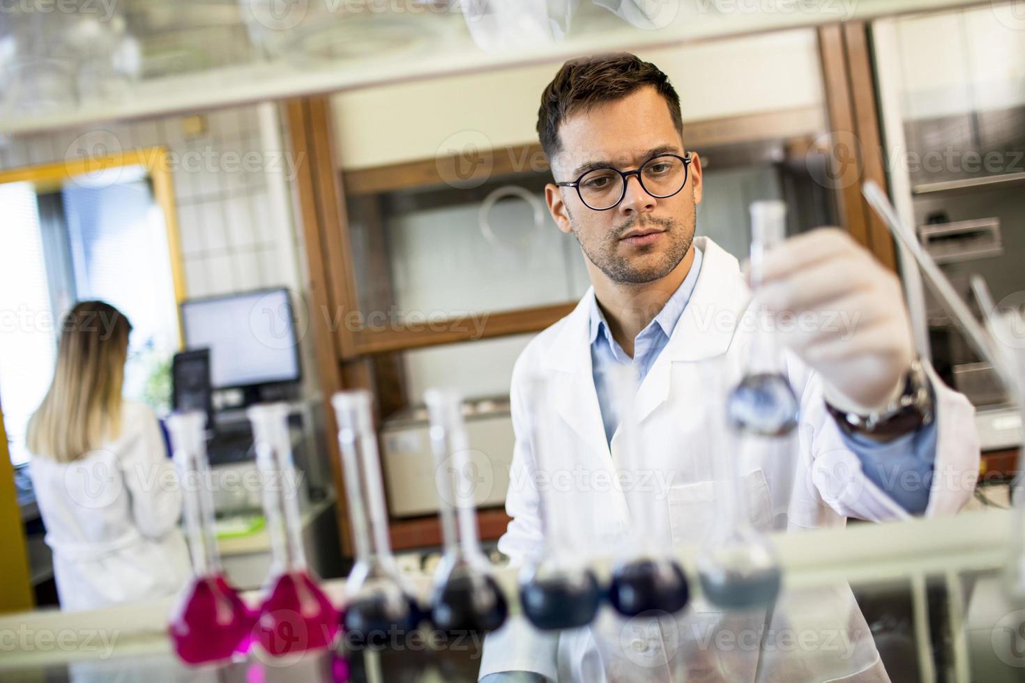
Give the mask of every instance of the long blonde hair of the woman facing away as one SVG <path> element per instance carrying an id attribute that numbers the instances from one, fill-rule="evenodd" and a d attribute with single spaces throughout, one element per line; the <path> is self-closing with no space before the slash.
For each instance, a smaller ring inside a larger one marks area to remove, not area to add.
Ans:
<path id="1" fill-rule="evenodd" d="M 29 422 L 27 442 L 34 456 L 70 463 L 121 433 L 131 323 L 109 303 L 81 301 L 60 329 L 53 381 Z"/>

